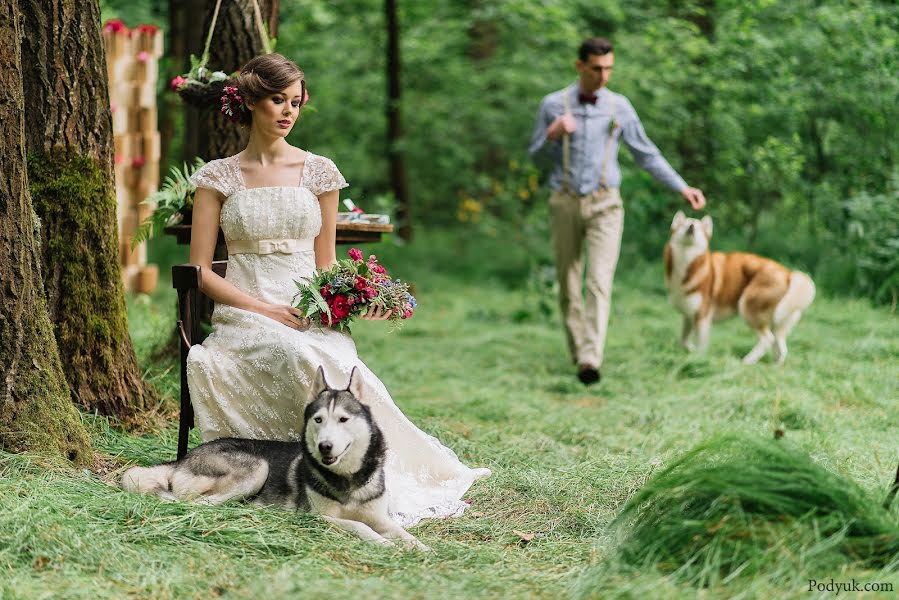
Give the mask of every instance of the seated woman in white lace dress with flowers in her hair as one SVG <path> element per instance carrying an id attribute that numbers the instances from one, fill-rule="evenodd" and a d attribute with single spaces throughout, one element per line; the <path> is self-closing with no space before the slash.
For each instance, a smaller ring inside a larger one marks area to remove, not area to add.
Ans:
<path id="1" fill-rule="evenodd" d="M 291 306 L 294 280 L 336 262 L 338 190 L 334 163 L 286 141 L 308 98 L 303 72 L 279 54 L 249 61 L 225 88 L 223 112 L 249 125 L 247 147 L 213 160 L 192 181 L 190 261 L 215 301 L 212 333 L 190 350 L 187 378 L 204 441 L 219 437 L 297 440 L 303 403 L 319 365 L 340 386 L 353 367 L 387 440 L 390 512 L 403 526 L 460 514 L 462 495 L 490 474 L 470 469 L 418 429 L 356 353 L 348 335 L 312 326 Z M 225 278 L 212 271 L 219 227 L 228 246 Z M 370 310 L 363 318 L 389 315 Z"/>

